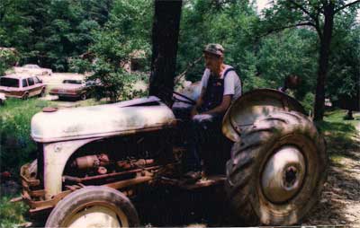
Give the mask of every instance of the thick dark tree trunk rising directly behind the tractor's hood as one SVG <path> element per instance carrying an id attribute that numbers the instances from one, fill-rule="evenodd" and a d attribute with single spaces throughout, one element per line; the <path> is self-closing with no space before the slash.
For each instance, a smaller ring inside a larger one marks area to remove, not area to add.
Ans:
<path id="1" fill-rule="evenodd" d="M 171 102 L 182 1 L 155 0 L 149 95 Z"/>

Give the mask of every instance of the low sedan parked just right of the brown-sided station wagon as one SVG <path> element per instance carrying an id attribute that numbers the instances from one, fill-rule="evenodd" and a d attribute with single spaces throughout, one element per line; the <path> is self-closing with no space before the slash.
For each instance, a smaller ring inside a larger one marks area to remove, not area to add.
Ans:
<path id="1" fill-rule="evenodd" d="M 60 85 L 50 90 L 51 95 L 57 95 L 58 99 L 73 98 L 85 101 L 96 85 L 94 81 L 85 81 L 84 78 L 65 79 Z"/>

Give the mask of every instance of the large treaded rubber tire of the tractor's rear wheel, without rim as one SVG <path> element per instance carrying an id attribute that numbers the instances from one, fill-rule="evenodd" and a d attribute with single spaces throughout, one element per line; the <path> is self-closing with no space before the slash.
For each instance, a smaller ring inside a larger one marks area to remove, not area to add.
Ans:
<path id="1" fill-rule="evenodd" d="M 320 197 L 326 180 L 325 141 L 311 119 L 294 111 L 269 113 L 240 129 L 241 141 L 231 148 L 225 189 L 235 215 L 246 224 L 297 224 Z M 284 203 L 264 194 L 261 177 L 276 149 L 291 145 L 301 151 L 306 171 L 302 187 Z"/>

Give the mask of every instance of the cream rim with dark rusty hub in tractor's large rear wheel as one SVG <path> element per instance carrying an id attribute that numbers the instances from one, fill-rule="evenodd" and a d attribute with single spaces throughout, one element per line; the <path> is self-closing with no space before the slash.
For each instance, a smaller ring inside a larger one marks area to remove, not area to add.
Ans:
<path id="1" fill-rule="evenodd" d="M 261 188 L 265 197 L 276 204 L 295 197 L 302 188 L 305 171 L 304 157 L 296 147 L 280 148 L 266 162 L 262 173 Z"/>

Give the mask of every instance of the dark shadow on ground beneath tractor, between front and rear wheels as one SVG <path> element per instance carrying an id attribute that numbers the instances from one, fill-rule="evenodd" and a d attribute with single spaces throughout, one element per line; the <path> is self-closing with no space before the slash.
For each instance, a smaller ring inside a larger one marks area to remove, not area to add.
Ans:
<path id="1" fill-rule="evenodd" d="M 230 226 L 229 204 L 222 187 L 187 191 L 156 189 L 134 201 L 145 226 Z"/>

